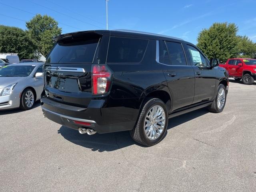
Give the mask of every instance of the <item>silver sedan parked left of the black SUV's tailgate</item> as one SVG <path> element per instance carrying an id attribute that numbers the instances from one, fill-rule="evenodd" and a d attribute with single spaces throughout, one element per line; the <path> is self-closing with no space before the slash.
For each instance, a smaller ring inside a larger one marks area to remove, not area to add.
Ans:
<path id="1" fill-rule="evenodd" d="M 10 64 L 0 68 L 0 110 L 31 109 L 44 89 L 42 63 Z"/>

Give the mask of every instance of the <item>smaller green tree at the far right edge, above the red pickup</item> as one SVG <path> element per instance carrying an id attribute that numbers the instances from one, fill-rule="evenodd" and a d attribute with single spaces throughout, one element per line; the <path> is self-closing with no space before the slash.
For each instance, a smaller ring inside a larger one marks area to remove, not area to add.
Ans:
<path id="1" fill-rule="evenodd" d="M 238 58 L 256 58 L 256 44 L 247 36 L 238 36 Z"/>

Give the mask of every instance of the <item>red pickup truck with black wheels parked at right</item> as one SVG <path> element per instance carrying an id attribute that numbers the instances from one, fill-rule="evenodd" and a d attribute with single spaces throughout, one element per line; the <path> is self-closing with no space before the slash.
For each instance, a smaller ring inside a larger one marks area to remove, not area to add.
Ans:
<path id="1" fill-rule="evenodd" d="M 242 79 L 244 84 L 251 85 L 256 80 L 256 59 L 233 58 L 219 66 L 225 68 L 228 76 L 236 81 Z"/>

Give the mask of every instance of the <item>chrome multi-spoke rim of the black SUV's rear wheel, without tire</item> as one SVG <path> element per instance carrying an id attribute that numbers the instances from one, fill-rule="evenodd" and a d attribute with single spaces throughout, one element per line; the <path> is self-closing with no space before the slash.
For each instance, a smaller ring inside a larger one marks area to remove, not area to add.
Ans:
<path id="1" fill-rule="evenodd" d="M 157 139 L 164 130 L 165 121 L 165 112 L 161 106 L 155 105 L 150 108 L 144 121 L 146 137 L 150 140 Z"/>

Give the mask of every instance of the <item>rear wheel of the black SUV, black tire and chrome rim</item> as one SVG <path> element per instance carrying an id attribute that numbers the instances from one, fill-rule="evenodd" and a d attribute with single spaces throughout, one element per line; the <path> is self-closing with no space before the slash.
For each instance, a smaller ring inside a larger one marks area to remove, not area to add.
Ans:
<path id="1" fill-rule="evenodd" d="M 164 102 L 158 98 L 148 98 L 130 135 L 134 141 L 152 146 L 163 139 L 167 125 L 168 112 Z"/>

